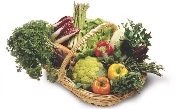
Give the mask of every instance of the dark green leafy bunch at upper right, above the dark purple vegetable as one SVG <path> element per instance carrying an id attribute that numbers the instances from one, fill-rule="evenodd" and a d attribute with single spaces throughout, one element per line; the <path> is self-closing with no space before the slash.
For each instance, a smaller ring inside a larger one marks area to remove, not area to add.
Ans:
<path id="1" fill-rule="evenodd" d="M 128 19 L 128 22 L 122 23 L 122 26 L 125 30 L 124 35 L 120 37 L 120 40 L 123 41 L 121 45 L 123 53 L 131 56 L 133 50 L 139 45 L 146 44 L 147 46 L 151 46 L 151 32 L 147 33 L 142 23 L 135 24 L 132 20 Z"/>

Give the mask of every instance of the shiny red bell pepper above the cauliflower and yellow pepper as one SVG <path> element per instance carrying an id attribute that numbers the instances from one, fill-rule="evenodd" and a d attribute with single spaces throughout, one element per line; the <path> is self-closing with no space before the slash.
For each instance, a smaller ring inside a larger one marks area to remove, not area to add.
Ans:
<path id="1" fill-rule="evenodd" d="M 104 53 L 106 53 L 107 55 L 114 54 L 114 49 L 107 41 L 104 40 L 98 42 L 94 52 L 97 57 L 102 57 Z"/>

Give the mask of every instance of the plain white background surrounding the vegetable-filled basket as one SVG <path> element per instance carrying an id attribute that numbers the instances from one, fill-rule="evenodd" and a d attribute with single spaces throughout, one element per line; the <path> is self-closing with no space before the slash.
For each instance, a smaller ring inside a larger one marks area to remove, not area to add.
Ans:
<path id="1" fill-rule="evenodd" d="M 148 74 L 140 94 L 116 104 L 110 109 L 177 109 L 175 0 L 76 0 L 89 3 L 88 18 L 103 18 L 115 24 L 127 18 L 152 32 L 149 56 L 166 68 L 163 77 Z M 16 72 L 14 58 L 7 52 L 6 41 L 15 27 L 29 20 L 42 19 L 50 23 L 65 15 L 72 16 L 73 0 L 1 0 L 0 1 L 0 109 L 96 109 L 58 83 L 49 83 L 46 73 L 40 81 Z"/>

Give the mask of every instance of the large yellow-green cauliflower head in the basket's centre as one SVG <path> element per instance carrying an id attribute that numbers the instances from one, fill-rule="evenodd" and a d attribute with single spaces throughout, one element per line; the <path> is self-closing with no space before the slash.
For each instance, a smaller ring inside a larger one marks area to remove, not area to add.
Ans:
<path id="1" fill-rule="evenodd" d="M 96 57 L 91 56 L 79 59 L 72 74 L 73 81 L 81 84 L 83 89 L 91 88 L 91 83 L 100 76 L 107 76 L 107 70 Z"/>

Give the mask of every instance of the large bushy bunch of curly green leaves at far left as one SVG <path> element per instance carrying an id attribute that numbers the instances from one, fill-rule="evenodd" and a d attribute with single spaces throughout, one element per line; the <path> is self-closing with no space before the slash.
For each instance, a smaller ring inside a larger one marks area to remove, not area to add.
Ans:
<path id="1" fill-rule="evenodd" d="M 18 72 L 25 69 L 31 78 L 39 80 L 43 65 L 52 65 L 54 45 L 49 36 L 53 31 L 53 26 L 43 20 L 32 20 L 14 29 L 6 49 L 16 58 Z"/>

